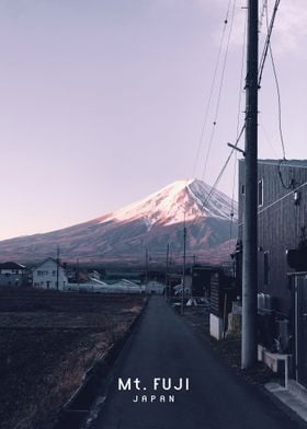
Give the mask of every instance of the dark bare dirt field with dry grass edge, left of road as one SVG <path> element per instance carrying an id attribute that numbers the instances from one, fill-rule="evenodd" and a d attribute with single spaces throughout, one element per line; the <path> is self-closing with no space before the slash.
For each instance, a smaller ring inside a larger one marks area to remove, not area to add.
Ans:
<path id="1" fill-rule="evenodd" d="M 48 428 L 144 302 L 140 295 L 0 290 L 0 428 Z"/>

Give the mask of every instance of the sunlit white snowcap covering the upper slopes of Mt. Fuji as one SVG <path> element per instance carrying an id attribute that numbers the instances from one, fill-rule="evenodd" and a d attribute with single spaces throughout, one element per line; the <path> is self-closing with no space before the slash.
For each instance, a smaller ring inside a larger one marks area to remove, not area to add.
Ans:
<path id="1" fill-rule="evenodd" d="M 170 225 L 195 218 L 230 219 L 231 200 L 219 190 L 208 198 L 212 187 L 202 181 L 178 181 L 147 198 L 101 218 L 101 223 L 143 219 L 147 229 Z M 236 218 L 235 211 L 235 218 Z"/>

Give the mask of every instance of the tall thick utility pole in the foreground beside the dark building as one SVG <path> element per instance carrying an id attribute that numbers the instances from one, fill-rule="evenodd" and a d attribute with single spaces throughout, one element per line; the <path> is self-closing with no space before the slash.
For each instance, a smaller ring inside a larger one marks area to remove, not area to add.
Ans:
<path id="1" fill-rule="evenodd" d="M 258 16 L 259 1 L 248 0 L 242 273 L 242 369 L 251 368 L 257 362 Z"/>

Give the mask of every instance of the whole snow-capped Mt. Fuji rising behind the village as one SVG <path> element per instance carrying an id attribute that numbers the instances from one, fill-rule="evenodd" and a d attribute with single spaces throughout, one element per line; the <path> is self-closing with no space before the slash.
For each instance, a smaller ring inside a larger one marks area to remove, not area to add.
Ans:
<path id="1" fill-rule="evenodd" d="M 183 227 L 187 256 L 219 263 L 229 259 L 237 234 L 237 204 L 198 179 L 178 181 L 120 210 L 73 227 L 0 242 L 2 260 L 39 262 L 55 256 L 87 263 L 164 263 L 169 243 L 182 260 Z M 230 215 L 232 213 L 232 216 Z M 231 220 L 232 218 L 232 220 Z M 185 222 L 185 223 L 184 223 Z M 230 236 L 230 231 L 232 234 Z M 232 237 L 232 240 L 231 240 Z"/>

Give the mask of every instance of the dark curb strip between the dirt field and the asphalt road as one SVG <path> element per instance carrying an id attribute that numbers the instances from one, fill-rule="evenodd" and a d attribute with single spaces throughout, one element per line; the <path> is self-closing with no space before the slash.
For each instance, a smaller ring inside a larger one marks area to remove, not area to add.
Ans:
<path id="1" fill-rule="evenodd" d="M 112 369 L 122 350 L 139 324 L 148 304 L 145 304 L 122 338 L 114 343 L 105 355 L 86 373 L 82 384 L 72 394 L 70 399 L 61 407 L 52 425 L 53 429 L 78 429 L 87 427 L 92 408 L 102 405 L 112 382 Z M 94 413 L 95 414 L 95 413 Z"/>

